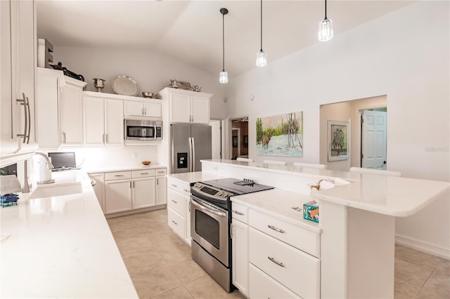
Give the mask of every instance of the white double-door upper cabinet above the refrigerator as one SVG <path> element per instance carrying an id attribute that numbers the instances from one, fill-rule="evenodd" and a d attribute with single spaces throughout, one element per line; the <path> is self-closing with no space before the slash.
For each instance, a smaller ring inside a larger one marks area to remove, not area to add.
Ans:
<path id="1" fill-rule="evenodd" d="M 159 96 L 169 101 L 170 123 L 209 124 L 212 94 L 167 87 Z"/>

